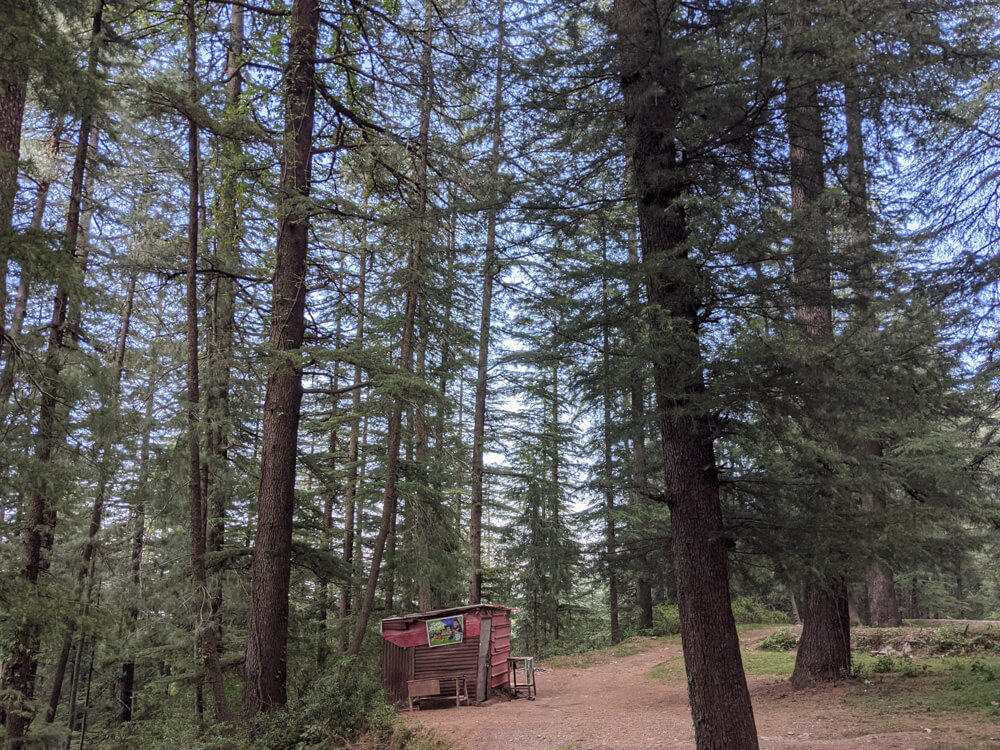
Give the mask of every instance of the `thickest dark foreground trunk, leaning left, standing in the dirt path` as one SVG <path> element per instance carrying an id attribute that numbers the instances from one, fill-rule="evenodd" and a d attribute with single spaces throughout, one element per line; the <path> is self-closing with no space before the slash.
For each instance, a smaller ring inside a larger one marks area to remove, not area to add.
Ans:
<path id="1" fill-rule="evenodd" d="M 755 749 L 757 730 L 730 607 L 715 426 L 703 402 L 701 269 L 688 256 L 685 175 L 673 137 L 685 96 L 684 61 L 657 9 L 641 0 L 616 0 L 614 21 L 642 258 L 656 316 L 650 348 L 688 695 L 700 750 Z"/>

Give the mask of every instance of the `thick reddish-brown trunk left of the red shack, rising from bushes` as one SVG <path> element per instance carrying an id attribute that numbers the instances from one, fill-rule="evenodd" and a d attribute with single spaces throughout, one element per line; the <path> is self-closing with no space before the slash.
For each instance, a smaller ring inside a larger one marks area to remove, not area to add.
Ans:
<path id="1" fill-rule="evenodd" d="M 305 333 L 310 167 L 316 103 L 318 0 L 295 0 L 285 72 L 285 137 L 278 206 L 271 348 L 277 352 L 264 399 L 257 539 L 243 712 L 250 718 L 286 702 L 288 586 L 295 452 L 302 406 L 302 369 L 293 355 Z"/>

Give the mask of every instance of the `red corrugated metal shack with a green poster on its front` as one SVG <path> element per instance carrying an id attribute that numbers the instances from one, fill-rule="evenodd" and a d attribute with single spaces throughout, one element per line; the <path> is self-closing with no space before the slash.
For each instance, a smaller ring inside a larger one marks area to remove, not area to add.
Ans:
<path id="1" fill-rule="evenodd" d="M 469 697 L 481 703 L 507 686 L 509 655 L 508 607 L 473 604 L 382 620 L 382 684 L 395 701 L 406 700 L 409 680 L 465 677 Z"/>

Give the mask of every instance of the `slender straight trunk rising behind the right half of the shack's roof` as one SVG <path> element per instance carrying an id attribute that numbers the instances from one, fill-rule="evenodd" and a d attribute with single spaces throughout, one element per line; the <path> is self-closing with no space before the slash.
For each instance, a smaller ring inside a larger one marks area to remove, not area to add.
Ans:
<path id="1" fill-rule="evenodd" d="M 497 213 L 500 194 L 500 147 L 503 143 L 503 63 L 506 25 L 504 0 L 497 8 L 497 62 L 493 86 L 493 142 L 490 169 L 494 191 L 486 213 L 486 255 L 483 260 L 483 294 L 479 316 L 479 354 L 476 359 L 476 395 L 472 417 L 472 493 L 469 515 L 469 604 L 479 604 L 483 596 L 483 444 L 486 437 L 487 373 L 490 360 L 490 334 L 493 312 L 493 279 L 497 273 Z"/>

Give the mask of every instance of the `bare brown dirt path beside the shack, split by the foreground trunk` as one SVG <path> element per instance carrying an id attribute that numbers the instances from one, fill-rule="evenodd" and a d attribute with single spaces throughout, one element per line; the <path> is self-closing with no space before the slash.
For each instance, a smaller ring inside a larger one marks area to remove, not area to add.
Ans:
<path id="1" fill-rule="evenodd" d="M 743 641 L 756 643 L 767 632 L 746 633 Z M 693 748 L 681 659 L 678 643 L 661 641 L 621 658 L 541 664 L 545 671 L 538 674 L 534 701 L 492 700 L 482 706 L 404 712 L 404 722 L 464 750 Z M 667 673 L 665 678 L 650 676 L 657 666 Z M 987 719 L 849 707 L 844 699 L 863 689 L 858 682 L 845 682 L 795 692 L 787 678 L 751 677 L 761 747 L 1000 748 L 1000 724 Z"/>

